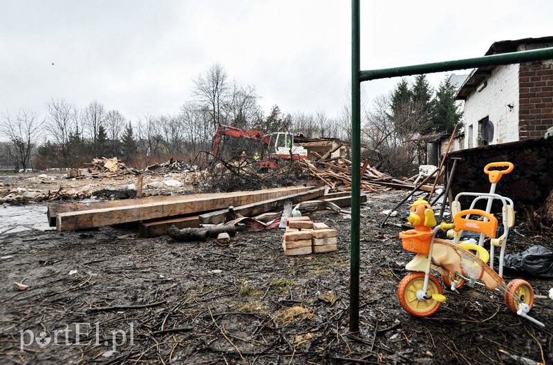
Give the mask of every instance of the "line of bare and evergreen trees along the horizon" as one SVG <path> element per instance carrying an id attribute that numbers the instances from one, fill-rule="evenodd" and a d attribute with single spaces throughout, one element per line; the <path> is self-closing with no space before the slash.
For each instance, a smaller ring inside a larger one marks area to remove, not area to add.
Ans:
<path id="1" fill-rule="evenodd" d="M 136 121 L 118 110 L 106 110 L 97 100 L 79 107 L 65 98 L 46 102 L 44 116 L 23 109 L 0 113 L 0 131 L 8 138 L 0 145 L 0 167 L 64 169 L 83 167 L 101 157 L 118 157 L 137 168 L 170 158 L 199 164 L 207 158 L 207 153 L 200 151 L 212 149 L 218 124 L 350 140 L 347 97 L 333 117 L 324 109 L 283 113 L 277 105 L 264 115 L 255 87 L 230 79 L 221 64 L 213 64 L 192 82 L 191 99 L 178 111 L 146 115 Z M 434 95 L 426 76 L 420 75 L 412 85 L 402 79 L 394 91 L 371 104 L 364 98 L 362 142 L 368 151 L 366 157 L 379 161 L 392 174 L 409 165 L 408 160 L 411 165 L 418 162 L 403 150 L 423 135 L 452 129 L 460 118 L 453 97 L 453 86 L 447 79 Z M 243 148 L 240 141 L 225 142 L 227 158 Z M 405 161 L 392 162 L 402 153 L 409 155 Z"/>

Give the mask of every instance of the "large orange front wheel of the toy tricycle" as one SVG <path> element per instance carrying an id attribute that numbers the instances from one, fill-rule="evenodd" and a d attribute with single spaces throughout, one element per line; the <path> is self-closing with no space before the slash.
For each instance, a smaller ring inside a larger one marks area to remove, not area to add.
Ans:
<path id="1" fill-rule="evenodd" d="M 402 279 L 399 288 L 397 288 L 397 296 L 400 298 L 404 310 L 417 317 L 433 315 L 442 305 L 440 301 L 435 299 L 419 300 L 417 292 L 422 290 L 423 287 L 424 272 L 411 272 Z M 438 279 L 430 275 L 427 297 L 431 297 L 433 294 L 442 294 L 442 286 Z"/>

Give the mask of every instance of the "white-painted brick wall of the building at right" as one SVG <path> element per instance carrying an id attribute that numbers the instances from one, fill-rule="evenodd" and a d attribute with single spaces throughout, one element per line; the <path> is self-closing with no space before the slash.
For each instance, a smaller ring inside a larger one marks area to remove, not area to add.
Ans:
<path id="1" fill-rule="evenodd" d="M 465 102 L 465 148 L 469 147 L 471 124 L 473 147 L 478 145 L 478 120 L 486 117 L 494 123 L 494 140 L 490 144 L 518 141 L 518 95 L 518 64 L 496 67 L 487 86 L 471 93 Z"/>

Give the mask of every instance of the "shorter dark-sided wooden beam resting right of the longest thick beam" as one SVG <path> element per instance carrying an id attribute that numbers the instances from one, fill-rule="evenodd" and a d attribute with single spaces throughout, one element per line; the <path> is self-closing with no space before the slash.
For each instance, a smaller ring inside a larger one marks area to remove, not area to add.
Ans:
<path id="1" fill-rule="evenodd" d="M 241 216 L 246 217 L 256 216 L 261 213 L 270 212 L 272 210 L 282 208 L 286 201 L 291 201 L 292 204 L 297 204 L 304 200 L 313 200 L 315 198 L 319 198 L 319 196 L 324 195 L 325 189 L 326 188 L 324 187 L 319 187 L 310 191 L 303 191 L 297 194 L 281 196 L 279 198 L 272 198 L 256 203 L 242 205 L 239 207 L 234 207 L 232 209 L 232 212 L 230 212 L 229 209 L 221 209 L 216 212 L 200 214 L 200 224 L 225 223 L 226 221 L 236 218 L 236 214 L 240 214 Z"/>

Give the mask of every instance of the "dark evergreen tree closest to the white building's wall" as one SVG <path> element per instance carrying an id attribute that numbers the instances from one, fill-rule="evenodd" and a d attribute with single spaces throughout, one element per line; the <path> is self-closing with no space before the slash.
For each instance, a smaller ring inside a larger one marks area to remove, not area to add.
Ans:
<path id="1" fill-rule="evenodd" d="M 435 132 L 453 133 L 453 129 L 462 117 L 462 111 L 455 104 L 455 88 L 449 77 L 440 82 L 434 99 L 432 128 Z"/>

